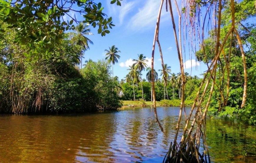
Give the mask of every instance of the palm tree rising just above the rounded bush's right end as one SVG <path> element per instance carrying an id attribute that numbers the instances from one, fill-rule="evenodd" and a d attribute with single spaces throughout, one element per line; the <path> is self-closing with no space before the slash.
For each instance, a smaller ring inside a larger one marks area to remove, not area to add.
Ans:
<path id="1" fill-rule="evenodd" d="M 120 56 L 117 53 L 121 53 L 121 51 L 113 45 L 111 48 L 109 47 L 109 50 L 105 49 L 105 52 L 107 52 L 105 60 L 107 60 L 108 63 L 112 63 L 112 77 L 114 78 L 113 66 L 115 63 L 118 63 L 117 59 L 119 59 Z"/>

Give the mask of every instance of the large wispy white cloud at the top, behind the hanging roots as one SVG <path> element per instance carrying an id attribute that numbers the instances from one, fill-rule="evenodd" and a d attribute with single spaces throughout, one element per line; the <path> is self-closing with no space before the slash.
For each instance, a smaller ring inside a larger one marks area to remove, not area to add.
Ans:
<path id="1" fill-rule="evenodd" d="M 144 29 L 148 26 L 155 26 L 155 22 L 157 21 L 158 9 L 160 6 L 160 1 L 156 0 L 148 0 L 144 4 L 142 8 L 139 8 L 137 14 L 132 16 L 128 27 L 134 30 Z M 167 15 L 169 13 L 166 12 L 165 6 L 162 7 L 161 13 L 161 21 L 166 20 Z"/>

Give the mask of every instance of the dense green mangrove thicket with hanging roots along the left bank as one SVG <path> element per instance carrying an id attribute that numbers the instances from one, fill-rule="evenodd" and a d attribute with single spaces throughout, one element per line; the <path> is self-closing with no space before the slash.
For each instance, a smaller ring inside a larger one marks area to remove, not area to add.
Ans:
<path id="1" fill-rule="evenodd" d="M 70 33 L 52 49 L 56 56 L 28 61 L 26 51 L 10 40 L 12 35 L 6 37 L 16 33 L 5 23 L 1 28 L 6 32 L 0 33 L 1 112 L 85 112 L 121 106 L 108 63 L 89 61 L 82 70 L 76 67 L 83 45 L 74 43 Z"/>

